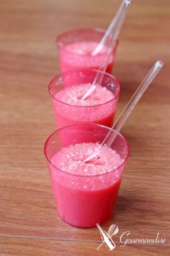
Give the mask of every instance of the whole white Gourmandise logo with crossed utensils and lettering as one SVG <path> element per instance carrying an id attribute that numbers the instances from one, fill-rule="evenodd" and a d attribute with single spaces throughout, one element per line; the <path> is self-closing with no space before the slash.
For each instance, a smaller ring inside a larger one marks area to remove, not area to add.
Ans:
<path id="1" fill-rule="evenodd" d="M 100 249 L 104 244 L 109 250 L 115 249 L 116 244 L 113 241 L 112 236 L 115 236 L 118 233 L 118 226 L 113 224 L 106 232 L 99 226 L 99 223 L 97 223 L 97 229 L 99 229 L 102 238 L 102 244 L 99 244 L 97 249 Z M 130 231 L 125 231 L 120 235 L 120 247 L 125 247 L 127 244 L 164 244 L 166 242 L 166 239 L 161 238 L 159 232 L 153 238 L 131 238 L 130 234 Z"/>

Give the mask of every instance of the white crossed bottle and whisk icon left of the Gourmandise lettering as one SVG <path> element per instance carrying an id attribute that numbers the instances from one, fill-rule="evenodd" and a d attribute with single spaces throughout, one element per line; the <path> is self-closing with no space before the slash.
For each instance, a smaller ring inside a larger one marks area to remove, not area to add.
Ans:
<path id="1" fill-rule="evenodd" d="M 100 232 L 100 235 L 102 238 L 102 244 L 100 244 L 97 247 L 97 249 L 100 249 L 103 244 L 106 244 L 109 250 L 115 249 L 116 244 L 112 240 L 112 236 L 115 236 L 118 233 L 118 231 L 119 231 L 118 226 L 113 224 L 109 227 L 108 231 L 106 232 L 106 231 L 102 230 L 101 226 L 99 226 L 99 223 L 97 223 L 97 228 L 99 229 L 99 232 Z"/>

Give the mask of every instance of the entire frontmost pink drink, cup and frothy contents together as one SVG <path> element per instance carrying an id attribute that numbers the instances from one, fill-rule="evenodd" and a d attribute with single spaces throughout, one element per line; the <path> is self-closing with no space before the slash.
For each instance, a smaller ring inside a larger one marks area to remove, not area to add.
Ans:
<path id="1" fill-rule="evenodd" d="M 75 132 L 83 137 L 73 137 Z M 72 226 L 90 228 L 112 218 L 122 174 L 128 158 L 128 144 L 117 135 L 111 148 L 103 146 L 99 159 L 83 163 L 109 132 L 97 124 L 77 124 L 54 132 L 45 143 L 58 214 Z M 114 132 L 114 131 L 113 131 Z M 70 135 L 63 147 L 61 137 Z"/>

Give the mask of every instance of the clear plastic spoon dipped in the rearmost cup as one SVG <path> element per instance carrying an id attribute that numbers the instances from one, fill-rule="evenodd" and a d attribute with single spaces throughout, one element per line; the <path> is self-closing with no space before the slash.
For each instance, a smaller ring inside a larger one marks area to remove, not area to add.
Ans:
<path id="1" fill-rule="evenodd" d="M 109 27 L 107 28 L 106 32 L 104 33 L 103 38 L 100 40 L 98 46 L 94 49 L 94 51 L 92 51 L 91 55 L 96 55 L 99 54 L 99 52 L 102 50 L 103 46 L 105 45 L 107 39 L 109 38 L 110 35 L 112 35 L 112 30 L 115 27 L 115 24 L 118 20 L 118 18 L 120 17 L 120 14 L 122 12 L 122 7 L 123 4 L 127 2 L 128 4 L 130 4 L 130 1 L 122 1 L 122 4 L 120 4 L 119 9 L 117 10 L 117 13 L 115 14 L 115 17 L 112 19 L 112 22 L 109 24 Z"/>

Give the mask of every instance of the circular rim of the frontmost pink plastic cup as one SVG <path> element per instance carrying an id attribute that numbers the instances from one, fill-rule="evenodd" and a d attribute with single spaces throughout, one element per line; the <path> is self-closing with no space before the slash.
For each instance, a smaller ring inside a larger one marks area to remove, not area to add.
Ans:
<path id="1" fill-rule="evenodd" d="M 122 163 L 120 164 L 120 166 L 118 166 L 116 169 L 114 169 L 114 170 L 112 170 L 112 171 L 109 171 L 109 172 L 107 172 L 107 173 L 104 173 L 104 174 L 95 174 L 95 175 L 90 175 L 90 176 L 88 176 L 88 175 L 80 175 L 80 174 L 71 174 L 71 173 L 68 173 L 68 172 L 66 172 L 66 171 L 63 171 L 63 170 L 61 170 L 60 168 L 56 167 L 53 163 L 51 163 L 50 159 L 48 158 L 48 154 L 46 153 L 46 148 L 47 148 L 47 145 L 48 145 L 48 142 L 49 142 L 50 138 L 53 137 L 53 135 L 55 135 L 55 133 L 61 131 L 61 129 L 67 129 L 67 128 L 69 128 L 69 127 L 76 127 L 76 126 L 82 126 L 82 125 L 84 125 L 84 126 L 86 126 L 86 125 L 92 125 L 92 126 L 102 127 L 102 128 L 104 128 L 104 129 L 108 129 L 108 130 L 112 129 L 112 128 L 107 127 L 107 126 L 104 126 L 104 125 L 102 125 L 102 124 L 94 124 L 94 123 L 71 124 L 71 125 L 68 125 L 68 126 L 66 126 L 66 127 L 62 127 L 62 128 L 60 128 L 60 129 L 56 129 L 51 135 L 48 136 L 47 140 L 45 140 L 45 145 L 44 145 L 44 154 L 45 154 L 45 158 L 47 159 L 48 163 L 50 163 L 50 165 L 52 165 L 52 166 L 55 168 L 55 170 L 61 171 L 61 172 L 63 172 L 64 174 L 71 175 L 71 176 L 81 176 L 81 177 L 91 177 L 91 176 L 92 176 L 92 177 L 94 177 L 94 176 L 102 176 L 102 175 L 111 174 L 113 171 L 117 171 L 119 168 L 121 168 L 121 167 L 128 161 L 128 157 L 129 157 L 129 154 L 130 154 L 130 146 L 129 146 L 128 140 L 127 140 L 120 132 L 117 132 L 117 135 L 119 135 L 119 136 L 122 138 L 122 140 L 124 140 L 125 145 L 127 146 L 127 151 L 128 151 L 128 153 L 127 153 L 125 159 L 123 160 L 123 162 L 122 162 Z M 114 130 L 114 131 L 115 131 L 115 130 Z"/>

